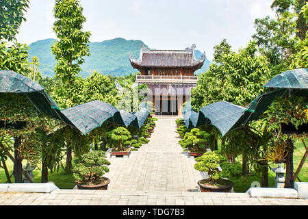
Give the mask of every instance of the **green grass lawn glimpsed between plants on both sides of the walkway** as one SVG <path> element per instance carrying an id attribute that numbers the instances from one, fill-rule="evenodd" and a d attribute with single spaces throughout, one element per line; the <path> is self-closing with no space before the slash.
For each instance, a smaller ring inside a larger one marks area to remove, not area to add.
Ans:
<path id="1" fill-rule="evenodd" d="M 306 140 L 306 144 L 308 144 L 308 140 Z M 305 148 L 303 146 L 302 142 L 296 142 L 294 144 L 295 149 L 294 149 L 294 171 L 296 171 L 296 168 L 298 167 L 298 164 L 300 163 L 300 160 L 302 159 L 304 153 L 305 153 Z M 220 147 L 220 143 L 218 144 L 218 147 Z M 241 158 L 238 157 L 238 161 L 241 162 Z M 23 161 L 23 165 L 26 164 L 26 161 Z M 65 164 L 65 161 L 64 161 Z M 8 169 L 10 173 L 12 173 L 13 170 L 13 164 L 12 162 L 8 161 L 7 162 Z M 302 170 L 300 171 L 300 174 L 298 175 L 299 179 L 301 181 L 308 181 L 308 162 L 306 160 Z M 270 187 L 274 187 L 275 181 L 275 173 L 272 172 L 272 170 L 268 171 L 268 183 Z M 58 188 L 60 189 L 72 189 L 75 186 L 73 175 L 72 174 L 66 174 L 62 168 L 60 168 L 59 172 L 49 172 L 49 181 L 53 181 L 55 185 L 57 185 Z M 234 182 L 234 187 L 233 189 L 235 192 L 246 192 L 250 187 L 251 183 L 253 181 L 258 181 L 261 183 L 261 178 L 255 174 L 253 170 L 251 170 L 251 174 L 248 175 L 247 177 L 241 177 L 240 179 L 231 179 L 231 181 Z M 0 169 L 0 183 L 5 183 L 6 182 L 6 177 L 5 177 L 5 172 L 3 169 Z M 14 182 L 14 177 L 12 177 L 12 182 Z M 34 182 L 39 183 L 40 182 L 40 170 L 36 168 L 34 170 Z"/>

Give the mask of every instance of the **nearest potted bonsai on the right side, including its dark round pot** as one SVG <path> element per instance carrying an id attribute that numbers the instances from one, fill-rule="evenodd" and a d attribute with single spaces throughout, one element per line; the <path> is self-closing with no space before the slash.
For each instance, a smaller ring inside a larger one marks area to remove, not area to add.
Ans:
<path id="1" fill-rule="evenodd" d="M 196 157 L 196 164 L 194 168 L 201 172 L 207 172 L 208 179 L 201 179 L 198 185 L 201 192 L 231 192 L 233 182 L 228 179 L 223 179 L 222 169 L 219 164 L 221 156 L 214 151 L 208 151 L 201 157 Z"/>

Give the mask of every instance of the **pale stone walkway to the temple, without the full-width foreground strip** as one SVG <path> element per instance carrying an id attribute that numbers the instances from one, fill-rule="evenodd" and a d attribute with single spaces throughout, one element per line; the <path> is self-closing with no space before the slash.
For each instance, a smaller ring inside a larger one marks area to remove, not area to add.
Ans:
<path id="1" fill-rule="evenodd" d="M 110 158 L 108 190 L 121 191 L 197 191 L 203 179 L 194 169 L 195 161 L 179 145 L 175 117 L 159 118 L 150 142 L 128 158 Z"/>

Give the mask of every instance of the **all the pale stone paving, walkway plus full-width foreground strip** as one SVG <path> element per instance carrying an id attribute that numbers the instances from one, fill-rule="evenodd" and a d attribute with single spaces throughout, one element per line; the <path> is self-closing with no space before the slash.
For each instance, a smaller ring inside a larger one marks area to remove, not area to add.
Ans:
<path id="1" fill-rule="evenodd" d="M 0 193 L 0 205 L 308 205 L 307 199 L 251 198 L 246 193 L 198 192 L 202 176 L 178 144 L 175 117 L 162 118 L 149 144 L 128 158 L 112 157 L 107 190 Z"/>

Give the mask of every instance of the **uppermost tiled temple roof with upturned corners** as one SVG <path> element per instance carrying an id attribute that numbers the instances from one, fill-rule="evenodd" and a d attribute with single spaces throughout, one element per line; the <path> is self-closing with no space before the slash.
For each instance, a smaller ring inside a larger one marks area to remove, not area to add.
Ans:
<path id="1" fill-rule="evenodd" d="M 129 60 L 133 68 L 140 67 L 192 67 L 201 68 L 205 60 L 202 55 L 199 60 L 194 59 L 194 48 L 186 48 L 184 50 L 151 50 L 141 48 L 140 57 L 137 59 L 129 54 Z"/>

